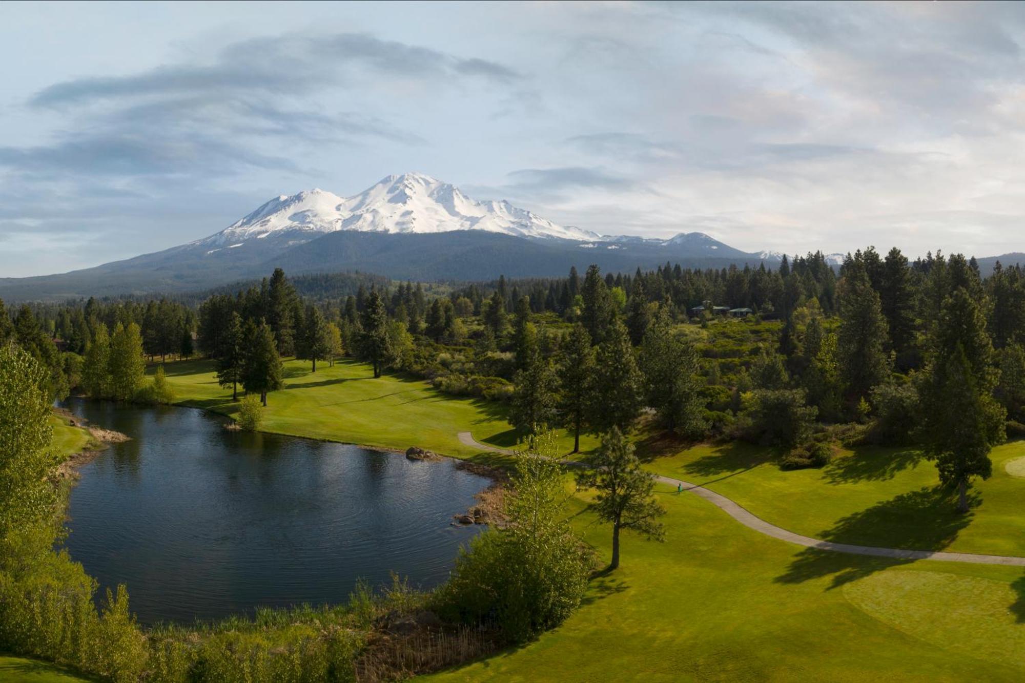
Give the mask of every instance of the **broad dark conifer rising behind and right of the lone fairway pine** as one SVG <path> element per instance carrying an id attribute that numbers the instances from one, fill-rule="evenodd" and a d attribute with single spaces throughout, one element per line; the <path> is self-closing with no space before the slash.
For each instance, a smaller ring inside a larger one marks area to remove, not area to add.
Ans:
<path id="1" fill-rule="evenodd" d="M 685 337 L 673 333 L 672 321 L 663 307 L 644 336 L 641 370 L 648 405 L 669 431 L 689 438 L 704 434 L 704 401 L 697 379 L 697 351 Z"/>

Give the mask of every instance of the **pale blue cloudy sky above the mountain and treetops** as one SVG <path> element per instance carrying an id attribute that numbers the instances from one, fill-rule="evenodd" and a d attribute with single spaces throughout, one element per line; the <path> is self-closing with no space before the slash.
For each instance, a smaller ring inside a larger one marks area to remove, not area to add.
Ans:
<path id="1" fill-rule="evenodd" d="M 0 277 L 420 171 L 600 233 L 1025 250 L 1025 8 L 0 5 Z"/>

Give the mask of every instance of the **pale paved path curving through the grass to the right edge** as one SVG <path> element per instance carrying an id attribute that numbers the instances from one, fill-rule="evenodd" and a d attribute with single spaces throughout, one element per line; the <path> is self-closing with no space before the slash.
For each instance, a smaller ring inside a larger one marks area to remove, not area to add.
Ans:
<path id="1" fill-rule="evenodd" d="M 476 441 L 469 432 L 459 433 L 459 442 L 465 446 L 471 446 L 475 448 L 480 448 L 482 450 L 490 450 L 496 453 L 512 454 L 516 451 L 509 450 L 508 448 L 497 448 L 495 446 L 489 446 L 488 444 L 480 443 Z M 563 460 L 564 464 L 570 466 L 578 466 L 579 463 L 573 460 Z M 697 484 L 691 484 L 682 479 L 672 479 L 671 477 L 663 477 L 661 475 L 655 475 L 655 480 L 662 483 L 668 484 L 669 486 L 678 486 L 682 490 L 688 491 L 704 498 L 708 503 L 712 504 L 727 515 L 737 520 L 744 526 L 754 529 L 760 533 L 764 533 L 767 536 L 772 536 L 773 538 L 779 538 L 780 540 L 785 540 L 787 543 L 796 544 L 797 546 L 804 546 L 805 548 L 815 548 L 817 550 L 833 551 L 835 553 L 849 553 L 851 555 L 871 555 L 874 557 L 891 557 L 899 560 L 934 560 L 938 562 L 973 562 L 975 564 L 1003 564 L 1012 565 L 1016 567 L 1025 567 L 1025 557 L 1008 557 L 1003 555 L 977 555 L 975 553 L 945 553 L 945 552 L 934 552 L 934 551 L 912 551 L 912 550 L 901 550 L 898 548 L 874 548 L 872 546 L 851 546 L 849 544 L 837 544 L 831 540 L 821 540 L 819 538 L 812 538 L 811 536 L 803 536 L 799 533 L 794 533 L 793 531 L 787 531 L 784 528 L 778 527 L 775 524 L 770 524 L 761 517 L 755 517 L 751 513 L 747 512 L 739 505 L 721 495 L 715 491 L 704 488 L 703 486 L 698 486 Z"/>

